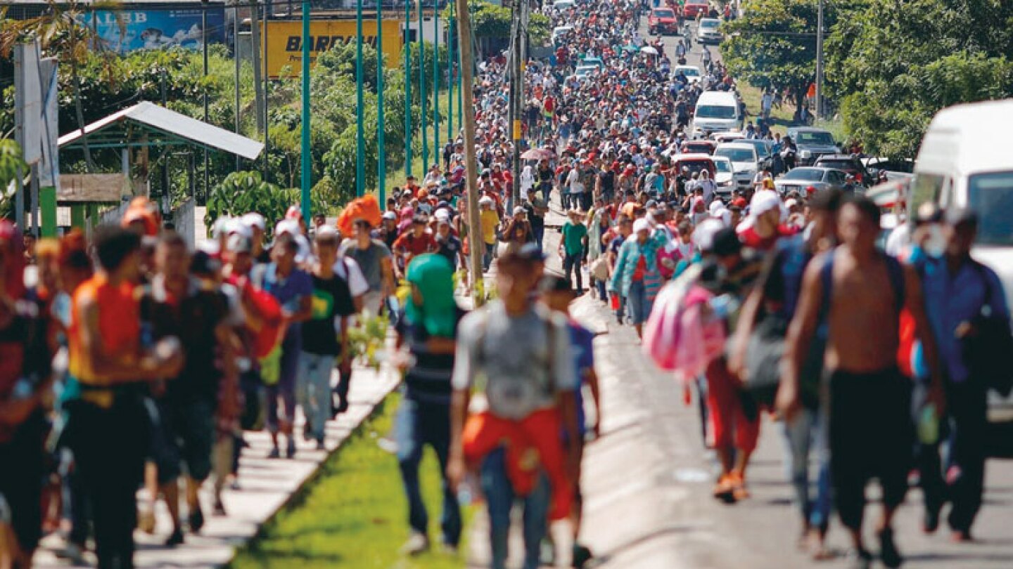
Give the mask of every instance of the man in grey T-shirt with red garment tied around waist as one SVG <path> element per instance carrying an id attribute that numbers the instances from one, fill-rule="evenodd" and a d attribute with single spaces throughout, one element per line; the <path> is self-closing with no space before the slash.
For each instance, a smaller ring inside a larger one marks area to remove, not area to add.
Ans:
<path id="1" fill-rule="evenodd" d="M 569 328 L 533 302 L 535 269 L 530 257 L 500 257 L 499 299 L 461 321 L 454 362 L 447 475 L 456 491 L 469 465 L 480 470 L 492 569 L 505 567 L 515 497 L 524 503 L 524 569 L 539 567 L 547 522 L 570 514 L 579 464 L 577 449 L 564 453 L 559 437 L 560 429 L 569 440 L 579 436 Z M 469 413 L 476 388 L 488 410 Z"/>

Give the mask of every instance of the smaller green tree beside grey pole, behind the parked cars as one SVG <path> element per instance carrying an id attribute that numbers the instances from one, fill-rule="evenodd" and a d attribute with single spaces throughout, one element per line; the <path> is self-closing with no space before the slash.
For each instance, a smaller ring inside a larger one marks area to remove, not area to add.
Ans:
<path id="1" fill-rule="evenodd" d="M 825 7 L 825 24 L 835 10 Z M 746 14 L 723 25 L 721 54 L 728 71 L 755 87 L 789 87 L 798 113 L 815 78 L 816 0 L 754 0 Z"/>

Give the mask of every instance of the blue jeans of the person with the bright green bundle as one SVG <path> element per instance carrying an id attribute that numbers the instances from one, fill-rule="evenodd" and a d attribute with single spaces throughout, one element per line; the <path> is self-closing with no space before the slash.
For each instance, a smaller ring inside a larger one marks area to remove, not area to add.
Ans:
<path id="1" fill-rule="evenodd" d="M 423 403 L 405 397 L 397 411 L 394 437 L 404 494 L 408 498 L 408 524 L 413 531 L 427 535 L 428 513 L 418 485 L 418 464 L 422 460 L 424 445 L 428 444 L 437 454 L 443 475 L 443 514 L 440 517 L 443 542 L 457 547 L 461 541 L 461 506 L 457 502 L 457 494 L 447 484 L 446 475 L 450 451 L 450 405 Z"/>

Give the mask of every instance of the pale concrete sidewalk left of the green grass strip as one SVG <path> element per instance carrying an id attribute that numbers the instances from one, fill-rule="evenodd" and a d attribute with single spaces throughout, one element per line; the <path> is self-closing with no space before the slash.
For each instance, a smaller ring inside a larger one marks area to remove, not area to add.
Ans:
<path id="1" fill-rule="evenodd" d="M 336 382 L 336 374 L 332 382 Z M 373 413 L 373 409 L 397 386 L 399 378 L 390 370 L 357 368 L 348 396 L 348 411 L 329 421 L 326 430 L 326 451 L 316 451 L 316 442 L 305 442 L 297 437 L 298 452 L 295 459 L 267 460 L 270 436 L 266 431 L 246 432 L 249 448 L 244 449 L 239 463 L 239 489 L 226 489 L 222 500 L 228 515 L 211 515 L 212 496 L 210 482 L 202 492 L 202 507 L 207 519 L 198 536 L 186 534 L 186 542 L 176 548 L 165 548 L 162 543 L 171 531 L 168 511 L 164 502 L 156 510 L 155 535 L 135 533 L 138 551 L 135 556 L 138 568 L 220 567 L 231 561 L 237 549 L 252 540 L 260 526 L 285 506 L 292 496 L 313 476 L 327 457 L 341 445 L 356 427 Z M 298 413 L 295 432 L 302 432 L 302 413 Z M 184 513 L 185 514 L 185 513 Z M 61 540 L 51 536 L 44 540 L 43 548 L 35 555 L 35 567 L 57 569 L 73 567 L 59 560 L 52 548 Z M 94 558 L 91 558 L 92 562 Z M 93 567 L 94 565 L 92 565 Z M 87 567 L 87 566 L 84 566 Z"/>

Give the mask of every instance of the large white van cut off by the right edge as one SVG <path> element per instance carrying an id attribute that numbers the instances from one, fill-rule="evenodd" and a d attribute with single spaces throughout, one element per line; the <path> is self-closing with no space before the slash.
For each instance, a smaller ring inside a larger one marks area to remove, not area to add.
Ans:
<path id="1" fill-rule="evenodd" d="M 915 161 L 908 211 L 927 201 L 979 216 L 971 255 L 996 271 L 1013 307 L 1013 99 L 943 109 L 929 125 Z M 1013 398 L 990 394 L 989 418 L 1013 420 Z"/>

